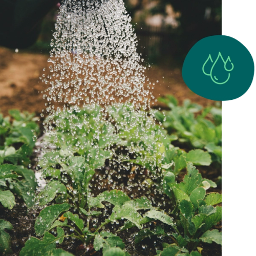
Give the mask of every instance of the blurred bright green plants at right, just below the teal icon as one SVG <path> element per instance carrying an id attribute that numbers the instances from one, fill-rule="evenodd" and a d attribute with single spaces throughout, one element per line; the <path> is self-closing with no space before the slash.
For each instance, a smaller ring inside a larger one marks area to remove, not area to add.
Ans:
<path id="1" fill-rule="evenodd" d="M 178 106 L 177 99 L 167 95 L 158 99 L 171 110 L 158 111 L 156 118 L 163 123 L 169 133 L 176 134 L 179 142 L 189 143 L 190 148 L 201 148 L 208 151 L 213 161 L 222 160 L 222 110 L 220 108 L 202 106 L 190 103 L 186 99 L 182 106 Z M 195 113 L 202 111 L 195 117 Z M 211 118 L 212 121 L 205 117 Z"/>

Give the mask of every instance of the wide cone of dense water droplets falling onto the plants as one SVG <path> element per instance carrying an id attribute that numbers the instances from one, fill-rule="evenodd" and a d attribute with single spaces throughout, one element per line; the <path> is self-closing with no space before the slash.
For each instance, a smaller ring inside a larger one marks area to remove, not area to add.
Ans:
<path id="1" fill-rule="evenodd" d="M 161 161 L 157 141 L 162 131 L 153 112 L 146 112 L 154 97 L 130 22 L 122 0 L 63 1 L 48 59 L 50 75 L 41 78 L 47 85 L 48 114 L 41 167 L 50 158 L 58 169 L 66 159 L 69 168 L 82 172 L 79 164 L 72 163 L 77 154 L 88 166 L 92 159 L 100 162 L 110 154 L 109 168 L 116 172 L 130 172 L 136 163 L 154 169 Z M 60 170 L 62 181 L 70 182 L 65 176 L 69 170 L 63 165 Z"/>

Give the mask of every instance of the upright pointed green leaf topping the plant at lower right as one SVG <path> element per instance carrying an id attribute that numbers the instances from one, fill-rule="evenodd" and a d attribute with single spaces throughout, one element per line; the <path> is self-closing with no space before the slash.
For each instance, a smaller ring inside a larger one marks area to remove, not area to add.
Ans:
<path id="1" fill-rule="evenodd" d="M 185 175 L 183 182 L 180 183 L 180 189 L 183 190 L 187 195 L 202 183 L 202 175 L 199 174 L 198 170 L 191 162 L 187 163 L 187 174 Z"/>

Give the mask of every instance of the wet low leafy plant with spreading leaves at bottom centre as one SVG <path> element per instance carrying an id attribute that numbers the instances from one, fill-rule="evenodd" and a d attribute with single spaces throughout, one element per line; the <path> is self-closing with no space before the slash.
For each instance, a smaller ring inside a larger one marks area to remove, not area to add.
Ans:
<path id="1" fill-rule="evenodd" d="M 97 228 L 92 228 L 90 226 L 90 220 L 93 216 L 102 215 L 102 211 L 97 210 L 97 208 L 103 209 L 105 207 L 102 202 L 109 202 L 114 205 L 112 214 L 106 218 L 103 223 L 99 223 Z M 39 216 L 36 218 L 35 232 L 37 236 L 44 235 L 44 238 L 42 240 L 36 238 L 29 239 L 25 247 L 20 251 L 20 256 L 27 255 L 26 253 L 28 252 L 32 253 L 31 255 L 55 253 L 56 243 L 62 243 L 63 239 L 68 237 L 77 238 L 86 245 L 88 245 L 91 240 L 94 240 L 94 249 L 96 251 L 102 249 L 103 255 L 109 255 L 112 251 L 118 253 L 117 255 L 130 255 L 120 249 L 113 249 L 116 247 L 124 249 L 124 243 L 116 234 L 104 231 L 102 228 L 108 223 L 117 223 L 120 220 L 127 221 L 120 230 L 133 226 L 142 228 L 142 224 L 150 221 L 150 219 L 147 217 L 143 218 L 138 211 L 151 209 L 152 205 L 145 197 L 131 200 L 122 191 L 114 189 L 104 191 L 95 198 L 88 198 L 87 207 L 79 207 L 79 215 L 69 211 L 72 207 L 73 206 L 68 203 L 62 203 L 50 205 L 42 209 Z M 58 218 L 60 215 L 61 217 Z M 87 223 L 84 222 L 84 218 L 87 219 Z M 71 225 L 69 223 L 71 223 Z M 86 226 L 84 224 L 86 224 Z M 55 228 L 57 237 L 49 233 L 50 230 Z M 69 229 L 75 231 L 75 233 L 70 234 Z"/>

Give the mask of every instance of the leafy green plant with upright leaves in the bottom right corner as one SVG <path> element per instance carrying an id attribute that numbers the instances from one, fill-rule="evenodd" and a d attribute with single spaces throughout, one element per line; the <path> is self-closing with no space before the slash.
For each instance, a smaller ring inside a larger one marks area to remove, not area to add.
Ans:
<path id="1" fill-rule="evenodd" d="M 181 183 L 175 182 L 173 173 L 166 172 L 163 179 L 165 194 L 175 203 L 170 215 L 164 211 L 151 209 L 145 217 L 159 220 L 170 226 L 165 231 L 160 226 L 154 230 L 145 229 L 138 233 L 135 242 L 161 234 L 173 240 L 173 244 L 164 243 L 163 251 L 157 255 L 200 255 L 193 250 L 200 242 L 222 244 L 222 232 L 217 229 L 210 230 L 222 220 L 222 207 L 214 206 L 222 202 L 222 195 L 218 193 L 206 194 L 206 189 L 214 182 L 203 179 L 192 163 L 187 163 L 187 175 Z M 189 254 L 191 253 L 191 254 Z M 183 255 L 183 254 L 182 254 Z"/>

